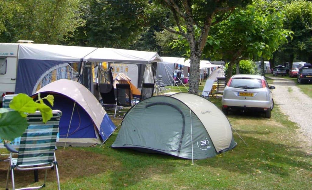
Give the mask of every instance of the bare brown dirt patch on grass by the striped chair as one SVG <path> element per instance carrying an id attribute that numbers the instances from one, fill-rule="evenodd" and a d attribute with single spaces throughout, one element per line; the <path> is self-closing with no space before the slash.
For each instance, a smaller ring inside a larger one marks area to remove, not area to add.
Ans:
<path id="1" fill-rule="evenodd" d="M 65 151 L 57 150 L 56 159 L 59 165 L 60 180 L 67 181 L 77 177 L 84 177 L 104 173 L 109 170 L 119 170 L 120 163 L 112 157 L 93 153 L 84 150 L 75 150 L 69 147 Z M 0 187 L 5 187 L 7 178 L 7 168 L 9 162 L 0 162 Z M 14 171 L 15 184 L 17 187 L 22 187 L 34 182 L 32 171 Z M 39 182 L 44 179 L 44 170 L 39 170 Z M 9 178 L 9 187 L 11 186 L 11 177 Z M 56 182 L 56 174 L 54 170 L 48 169 L 48 182 Z M 41 184 L 40 184 L 41 185 Z"/>

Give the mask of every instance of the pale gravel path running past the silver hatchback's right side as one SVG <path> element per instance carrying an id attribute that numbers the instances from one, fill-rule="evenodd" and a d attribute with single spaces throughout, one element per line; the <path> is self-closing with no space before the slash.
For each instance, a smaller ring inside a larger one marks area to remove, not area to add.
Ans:
<path id="1" fill-rule="evenodd" d="M 275 105 L 281 112 L 289 116 L 290 121 L 300 127 L 299 138 L 305 141 L 303 146 L 312 147 L 312 98 L 302 93 L 292 80 L 270 77 L 274 79 L 272 90 Z M 307 84 L 310 85 L 310 84 Z M 312 86 L 311 86 L 312 87 Z"/>

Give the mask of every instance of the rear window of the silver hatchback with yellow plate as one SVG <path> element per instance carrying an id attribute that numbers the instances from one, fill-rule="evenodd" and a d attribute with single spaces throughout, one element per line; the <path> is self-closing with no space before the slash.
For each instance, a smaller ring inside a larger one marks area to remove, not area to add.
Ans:
<path id="1" fill-rule="evenodd" d="M 232 78 L 230 87 L 234 88 L 262 88 L 261 79 L 257 78 Z"/>

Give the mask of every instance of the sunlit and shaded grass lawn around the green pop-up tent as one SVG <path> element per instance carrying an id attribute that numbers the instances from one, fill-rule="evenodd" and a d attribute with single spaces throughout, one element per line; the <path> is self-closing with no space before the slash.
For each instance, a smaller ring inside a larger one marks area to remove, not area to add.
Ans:
<path id="1" fill-rule="evenodd" d="M 221 98 L 210 100 L 221 108 Z M 271 114 L 266 119 L 255 113 L 230 113 L 237 146 L 216 157 L 195 160 L 194 165 L 192 160 L 173 156 L 112 149 L 120 126 L 102 147 L 66 147 L 65 151 L 59 147 L 61 189 L 312 189 L 311 149 L 303 148 L 297 126 L 278 106 Z M 113 121 L 117 126 L 121 120 Z M 0 162 L 3 189 L 6 172 L 7 162 Z M 56 189 L 55 172 L 48 173 L 44 189 Z M 32 172 L 16 174 L 17 187 L 33 182 Z M 39 174 L 42 181 L 44 173 Z"/>

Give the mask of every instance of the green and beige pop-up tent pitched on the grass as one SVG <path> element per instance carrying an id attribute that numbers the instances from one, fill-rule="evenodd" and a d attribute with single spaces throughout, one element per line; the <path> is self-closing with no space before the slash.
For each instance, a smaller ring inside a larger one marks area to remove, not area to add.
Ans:
<path id="1" fill-rule="evenodd" d="M 207 99 L 190 94 L 154 96 L 124 116 L 113 148 L 204 159 L 236 146 L 227 117 Z"/>

